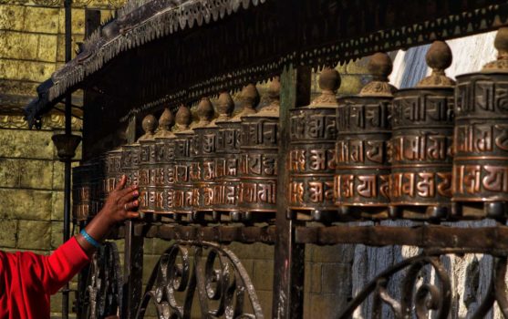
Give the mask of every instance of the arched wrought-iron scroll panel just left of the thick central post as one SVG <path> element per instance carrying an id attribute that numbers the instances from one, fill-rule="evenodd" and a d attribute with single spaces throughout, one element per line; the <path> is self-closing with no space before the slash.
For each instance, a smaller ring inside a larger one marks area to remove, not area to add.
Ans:
<path id="1" fill-rule="evenodd" d="M 233 252 L 212 242 L 180 241 L 155 266 L 136 318 L 150 304 L 158 318 L 190 318 L 194 295 L 206 318 L 264 318 L 254 285 Z M 244 309 L 246 299 L 252 313 Z"/>

